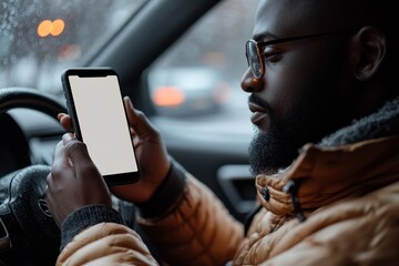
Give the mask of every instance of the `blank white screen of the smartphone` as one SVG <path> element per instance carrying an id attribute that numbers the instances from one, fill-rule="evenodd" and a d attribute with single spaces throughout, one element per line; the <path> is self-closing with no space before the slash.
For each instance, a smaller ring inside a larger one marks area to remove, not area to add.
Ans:
<path id="1" fill-rule="evenodd" d="M 83 142 L 102 175 L 136 172 L 117 76 L 69 76 Z"/>

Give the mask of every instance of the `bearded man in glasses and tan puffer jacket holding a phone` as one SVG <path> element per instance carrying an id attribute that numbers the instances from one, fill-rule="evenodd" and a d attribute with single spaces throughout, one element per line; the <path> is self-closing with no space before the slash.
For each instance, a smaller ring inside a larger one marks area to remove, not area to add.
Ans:
<path id="1" fill-rule="evenodd" d="M 260 208 L 246 233 L 209 190 L 167 156 L 157 131 L 125 99 L 142 178 L 112 193 L 137 205 L 137 222 L 167 264 L 397 264 L 392 4 L 260 1 L 242 81 L 258 129 L 249 157 Z M 69 116 L 60 121 L 70 129 Z M 47 195 L 62 226 L 59 264 L 156 265 L 111 208 L 84 144 L 71 135 L 55 149 Z"/>

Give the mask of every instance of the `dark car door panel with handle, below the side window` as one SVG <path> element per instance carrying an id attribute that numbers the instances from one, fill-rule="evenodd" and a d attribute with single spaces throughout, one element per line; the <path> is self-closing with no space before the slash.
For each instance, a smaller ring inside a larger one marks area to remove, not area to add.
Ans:
<path id="1" fill-rule="evenodd" d="M 249 173 L 248 136 L 225 136 L 177 130 L 156 123 L 168 153 L 244 221 L 255 204 L 255 178 Z"/>

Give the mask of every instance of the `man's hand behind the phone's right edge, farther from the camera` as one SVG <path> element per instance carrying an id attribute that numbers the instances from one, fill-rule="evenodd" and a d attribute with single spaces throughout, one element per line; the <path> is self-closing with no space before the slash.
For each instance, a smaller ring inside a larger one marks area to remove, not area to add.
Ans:
<path id="1" fill-rule="evenodd" d="M 129 98 L 124 98 L 123 101 L 140 165 L 140 178 L 134 184 L 111 186 L 110 190 L 122 200 L 143 203 L 151 198 L 166 177 L 171 162 L 158 131 L 141 111 L 134 110 Z M 68 114 L 60 114 L 59 120 L 66 131 L 72 131 L 72 121 Z M 75 171 L 79 170 L 75 168 Z M 86 191 L 89 188 L 82 187 L 81 190 Z M 94 193 L 92 190 L 90 192 Z"/>

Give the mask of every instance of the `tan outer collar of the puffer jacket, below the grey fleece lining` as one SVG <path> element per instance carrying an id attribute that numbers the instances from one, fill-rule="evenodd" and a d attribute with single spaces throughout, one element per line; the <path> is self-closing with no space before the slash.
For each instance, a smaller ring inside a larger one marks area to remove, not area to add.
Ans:
<path id="1" fill-rule="evenodd" d="M 303 211 L 314 211 L 344 197 L 364 195 L 399 181 L 399 136 L 382 137 L 339 147 L 307 144 L 285 172 L 258 175 L 256 187 L 264 207 L 277 215 L 293 214 L 291 195 L 284 191 L 300 181 Z M 263 190 L 268 190 L 266 201 Z"/>

